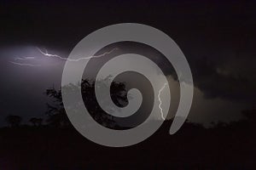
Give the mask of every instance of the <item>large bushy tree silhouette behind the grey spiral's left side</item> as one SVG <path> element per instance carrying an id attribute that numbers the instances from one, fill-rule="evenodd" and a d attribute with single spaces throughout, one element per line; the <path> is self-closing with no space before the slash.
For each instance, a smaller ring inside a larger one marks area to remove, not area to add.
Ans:
<path id="1" fill-rule="evenodd" d="M 109 77 L 99 82 L 100 85 L 105 85 L 109 81 Z M 78 88 L 76 85 L 68 85 L 65 88 Z M 115 122 L 113 121 L 113 116 L 104 114 L 102 108 L 98 105 L 95 95 L 95 81 L 85 79 L 81 82 L 81 93 L 84 99 L 84 104 L 87 110 L 90 112 L 96 122 L 102 124 L 105 127 L 114 127 Z M 112 82 L 111 85 L 111 98 L 113 103 L 119 106 L 123 106 L 127 103 L 126 89 L 124 82 Z M 67 117 L 66 111 L 63 107 L 61 90 L 56 90 L 55 88 L 49 88 L 46 90 L 46 95 L 54 99 L 54 104 L 48 106 L 48 111 L 46 111 L 47 122 L 49 125 L 54 127 L 65 127 L 69 126 L 71 123 Z"/>

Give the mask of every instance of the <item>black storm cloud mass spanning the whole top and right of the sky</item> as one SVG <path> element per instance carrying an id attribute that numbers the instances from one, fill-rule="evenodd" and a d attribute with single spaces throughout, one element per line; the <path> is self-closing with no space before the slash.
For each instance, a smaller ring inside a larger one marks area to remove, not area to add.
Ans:
<path id="1" fill-rule="evenodd" d="M 2 7 L 1 37 L 5 38 L 2 43 L 39 44 L 67 52 L 102 26 L 120 22 L 155 26 L 183 50 L 195 86 L 207 98 L 253 99 L 252 63 L 256 44 L 253 3 L 26 2 L 3 3 Z M 237 64 L 246 66 L 246 71 L 236 68 Z"/>

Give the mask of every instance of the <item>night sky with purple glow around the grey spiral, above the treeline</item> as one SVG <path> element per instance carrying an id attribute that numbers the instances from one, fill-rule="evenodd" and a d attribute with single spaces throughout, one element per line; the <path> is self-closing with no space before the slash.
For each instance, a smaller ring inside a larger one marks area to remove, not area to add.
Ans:
<path id="1" fill-rule="evenodd" d="M 6 125 L 8 115 L 22 116 L 24 123 L 32 116 L 45 116 L 50 100 L 44 92 L 60 88 L 65 59 L 43 53 L 67 58 L 90 32 L 127 22 L 154 26 L 182 49 L 195 83 L 189 121 L 206 126 L 237 121 L 242 110 L 256 105 L 255 5 L 245 1 L 2 1 L 0 125 Z M 163 56 L 148 55 L 159 57 L 159 65 L 168 73 Z M 175 75 L 168 74 L 171 87 L 176 88 Z"/>

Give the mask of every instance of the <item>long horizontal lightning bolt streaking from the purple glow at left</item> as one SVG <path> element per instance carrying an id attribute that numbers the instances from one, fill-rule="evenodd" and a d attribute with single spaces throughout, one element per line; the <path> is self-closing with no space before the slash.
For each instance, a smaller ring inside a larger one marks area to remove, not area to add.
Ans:
<path id="1" fill-rule="evenodd" d="M 63 60 L 68 60 L 68 61 L 79 61 L 79 60 L 82 60 L 82 59 L 100 58 L 104 55 L 113 53 L 113 51 L 116 50 L 116 49 L 118 49 L 118 48 L 113 48 L 111 51 L 108 51 L 104 54 L 92 55 L 92 56 L 89 56 L 89 57 L 82 57 L 82 58 L 79 58 L 79 59 L 67 59 L 67 58 L 61 57 L 60 55 L 57 55 L 57 54 L 49 54 L 47 50 L 45 50 L 45 52 L 43 52 L 40 48 L 38 48 L 38 51 L 41 54 L 44 54 L 44 56 L 47 56 L 47 57 L 55 57 L 57 59 L 63 59 Z"/>

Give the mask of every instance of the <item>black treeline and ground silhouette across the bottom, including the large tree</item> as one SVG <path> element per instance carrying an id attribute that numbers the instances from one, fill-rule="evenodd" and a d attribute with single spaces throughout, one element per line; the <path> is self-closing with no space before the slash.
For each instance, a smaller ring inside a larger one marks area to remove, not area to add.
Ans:
<path id="1" fill-rule="evenodd" d="M 84 103 L 102 126 L 119 129 L 113 117 L 102 116 L 95 105 L 95 82 L 84 80 Z M 76 87 L 71 87 L 76 88 Z M 124 105 L 124 82 L 113 82 L 112 99 Z M 218 122 L 211 128 L 185 122 L 169 134 L 172 120 L 140 144 L 108 148 L 85 139 L 69 122 L 63 108 L 61 90 L 49 88 L 47 119 L 32 117 L 31 125 L 21 125 L 20 116 L 8 116 L 9 127 L 0 129 L 0 169 L 255 169 L 256 110 L 242 111 L 239 122 Z M 104 123 L 103 123 L 104 122 Z"/>

